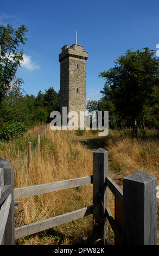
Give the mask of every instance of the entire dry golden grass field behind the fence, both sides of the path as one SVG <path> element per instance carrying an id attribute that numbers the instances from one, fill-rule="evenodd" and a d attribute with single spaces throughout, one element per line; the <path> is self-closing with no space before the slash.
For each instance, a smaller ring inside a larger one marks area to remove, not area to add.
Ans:
<path id="1" fill-rule="evenodd" d="M 37 134 L 43 127 L 35 127 L 20 139 L 0 143 L 1 157 L 14 166 L 14 187 L 26 187 L 58 180 L 92 175 L 92 149 L 105 148 L 109 152 L 109 175 L 122 187 L 123 177 L 143 170 L 159 178 L 159 142 L 157 139 L 131 139 L 122 132 L 110 131 L 106 138 L 97 132 L 77 136 L 75 131 L 52 131 L 41 133 L 40 150 Z M 31 168 L 27 168 L 27 142 L 33 147 Z M 25 153 L 26 150 L 26 153 Z M 113 214 L 114 197 L 109 191 L 109 208 Z M 22 198 L 15 212 L 16 227 L 53 216 L 58 216 L 92 205 L 92 185 Z M 17 245 L 70 245 L 82 237 L 91 237 L 92 216 L 60 225 L 33 236 L 16 240 Z M 113 244 L 113 233 L 109 228 Z"/>

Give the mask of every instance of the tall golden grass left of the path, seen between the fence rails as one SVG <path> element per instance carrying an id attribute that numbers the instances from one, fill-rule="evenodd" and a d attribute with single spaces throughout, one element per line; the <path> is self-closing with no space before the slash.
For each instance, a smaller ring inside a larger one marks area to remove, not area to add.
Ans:
<path id="1" fill-rule="evenodd" d="M 35 127 L 23 138 L 1 143 L 1 157 L 8 159 L 14 166 L 15 188 L 92 175 L 92 153 L 73 138 L 73 131 L 52 131 L 48 126 L 47 135 L 40 137 L 39 150 L 34 143 L 37 133 L 40 132 L 39 128 Z M 29 170 L 27 167 L 28 141 L 34 144 Z M 15 212 L 16 227 L 92 205 L 92 185 L 22 198 L 20 201 L 21 205 Z M 40 233 L 29 236 L 28 239 L 16 240 L 16 244 L 71 243 L 79 237 L 82 238 L 84 233 L 85 235 L 91 233 L 92 221 L 89 221 L 89 216 L 86 218 L 87 221 L 74 221 L 72 226 L 68 223 L 53 229 L 52 232 L 45 231 L 43 235 Z M 62 236 L 63 230 L 65 230 L 65 236 Z"/>

